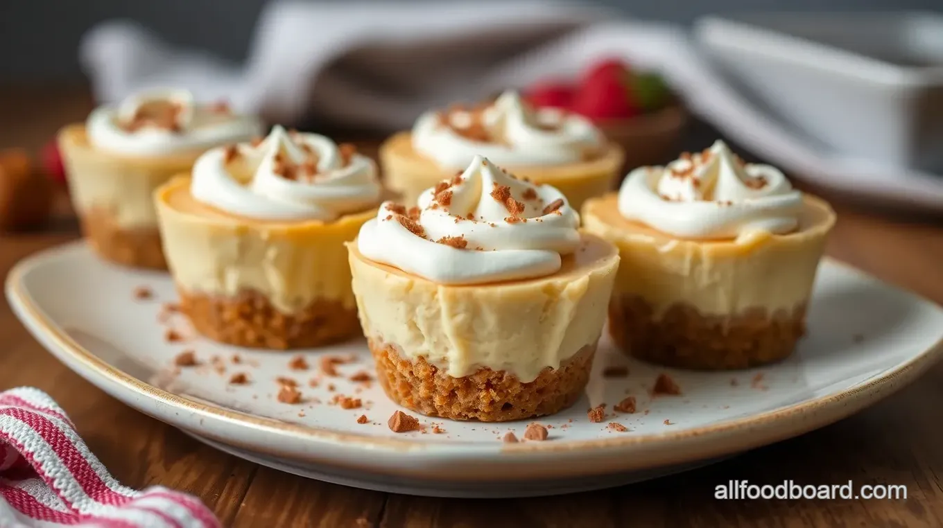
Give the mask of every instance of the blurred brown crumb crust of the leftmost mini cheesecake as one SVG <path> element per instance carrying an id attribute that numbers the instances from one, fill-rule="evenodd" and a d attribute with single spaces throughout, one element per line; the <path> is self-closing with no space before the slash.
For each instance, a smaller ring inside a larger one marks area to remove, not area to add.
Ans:
<path id="1" fill-rule="evenodd" d="M 102 258 L 132 268 L 167 270 L 157 225 L 126 229 L 100 208 L 82 213 L 80 223 L 85 239 Z"/>

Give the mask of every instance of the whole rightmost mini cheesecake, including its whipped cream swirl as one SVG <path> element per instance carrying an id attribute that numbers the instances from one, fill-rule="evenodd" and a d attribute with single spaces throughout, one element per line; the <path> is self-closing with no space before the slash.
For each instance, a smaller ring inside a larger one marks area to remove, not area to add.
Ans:
<path id="1" fill-rule="evenodd" d="M 609 329 L 625 352 L 735 369 L 782 359 L 802 337 L 835 212 L 717 141 L 629 173 L 583 220 L 620 248 Z"/>

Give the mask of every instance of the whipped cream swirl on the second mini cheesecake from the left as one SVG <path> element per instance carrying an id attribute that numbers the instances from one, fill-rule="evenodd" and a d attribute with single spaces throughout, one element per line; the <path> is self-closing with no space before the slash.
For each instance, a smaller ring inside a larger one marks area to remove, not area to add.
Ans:
<path id="1" fill-rule="evenodd" d="M 380 201 L 370 157 L 317 134 L 275 125 L 257 145 L 207 151 L 193 165 L 190 192 L 208 206 L 258 220 L 337 220 Z"/>

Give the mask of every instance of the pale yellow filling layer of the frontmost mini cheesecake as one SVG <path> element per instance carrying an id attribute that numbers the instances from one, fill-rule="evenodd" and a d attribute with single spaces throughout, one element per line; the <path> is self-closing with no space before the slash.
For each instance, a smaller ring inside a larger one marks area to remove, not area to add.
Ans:
<path id="1" fill-rule="evenodd" d="M 522 383 L 595 346 L 619 266 L 614 246 L 583 234 L 553 275 L 448 287 L 373 262 L 356 244 L 349 249 L 368 338 L 454 378 L 487 368 Z"/>

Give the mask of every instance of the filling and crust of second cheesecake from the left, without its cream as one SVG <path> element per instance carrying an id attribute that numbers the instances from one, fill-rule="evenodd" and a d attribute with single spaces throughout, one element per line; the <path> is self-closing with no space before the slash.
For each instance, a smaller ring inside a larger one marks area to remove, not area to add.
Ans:
<path id="1" fill-rule="evenodd" d="M 360 334 L 344 242 L 375 208 L 334 222 L 243 219 L 208 206 L 193 210 L 185 175 L 161 186 L 154 200 L 181 311 L 200 334 L 276 350 Z"/>

